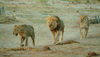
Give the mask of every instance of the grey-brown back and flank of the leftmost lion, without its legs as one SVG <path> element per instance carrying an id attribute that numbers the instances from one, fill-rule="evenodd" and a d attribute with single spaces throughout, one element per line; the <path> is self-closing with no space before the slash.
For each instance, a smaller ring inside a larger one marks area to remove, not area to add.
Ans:
<path id="1" fill-rule="evenodd" d="M 14 31 L 14 32 L 18 32 L 19 34 L 21 34 L 21 36 L 26 35 L 26 36 L 31 36 L 34 35 L 34 28 L 31 25 L 17 25 L 17 27 L 15 27 L 16 29 L 18 29 L 18 31 Z"/>

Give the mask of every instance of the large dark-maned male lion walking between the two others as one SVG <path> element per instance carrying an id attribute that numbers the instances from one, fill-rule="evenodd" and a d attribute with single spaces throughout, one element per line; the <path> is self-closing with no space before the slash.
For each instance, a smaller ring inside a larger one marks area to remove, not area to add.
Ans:
<path id="1" fill-rule="evenodd" d="M 59 42 L 61 42 L 63 40 L 64 22 L 58 16 L 49 16 L 47 17 L 47 26 L 53 35 L 53 43 L 56 43 L 59 33 L 61 33 L 59 40 Z"/>

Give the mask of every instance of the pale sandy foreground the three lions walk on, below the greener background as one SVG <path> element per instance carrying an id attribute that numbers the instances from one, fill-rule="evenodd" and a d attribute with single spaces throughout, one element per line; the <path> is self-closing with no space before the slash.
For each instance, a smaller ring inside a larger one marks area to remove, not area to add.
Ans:
<path id="1" fill-rule="evenodd" d="M 26 49 L 19 48 L 20 36 L 12 34 L 16 24 L 0 24 L 0 57 L 100 57 L 100 24 L 90 25 L 88 38 L 80 40 L 78 25 L 65 24 L 63 42 L 73 40 L 78 43 L 67 42 L 63 45 L 53 45 L 52 36 L 46 24 L 31 24 L 35 29 L 36 46 Z M 88 56 L 89 52 L 97 55 Z"/>

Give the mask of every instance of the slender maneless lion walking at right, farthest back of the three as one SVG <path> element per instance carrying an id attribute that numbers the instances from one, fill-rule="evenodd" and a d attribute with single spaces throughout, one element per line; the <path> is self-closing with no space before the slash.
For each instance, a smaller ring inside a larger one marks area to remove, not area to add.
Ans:
<path id="1" fill-rule="evenodd" d="M 88 16 L 80 16 L 79 24 L 80 24 L 80 35 L 81 35 L 80 39 L 83 39 L 84 37 L 87 38 L 87 33 L 89 30 Z"/>

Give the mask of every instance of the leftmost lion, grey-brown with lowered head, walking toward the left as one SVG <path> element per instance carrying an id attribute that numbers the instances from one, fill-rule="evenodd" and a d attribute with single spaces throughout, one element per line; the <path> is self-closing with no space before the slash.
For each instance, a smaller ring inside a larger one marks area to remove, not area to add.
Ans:
<path id="1" fill-rule="evenodd" d="M 35 46 L 35 33 L 34 28 L 31 25 L 15 25 L 13 30 L 13 35 L 20 35 L 20 47 L 27 47 L 28 45 L 28 37 L 31 37 L 33 45 Z M 24 42 L 24 44 L 23 44 Z"/>

